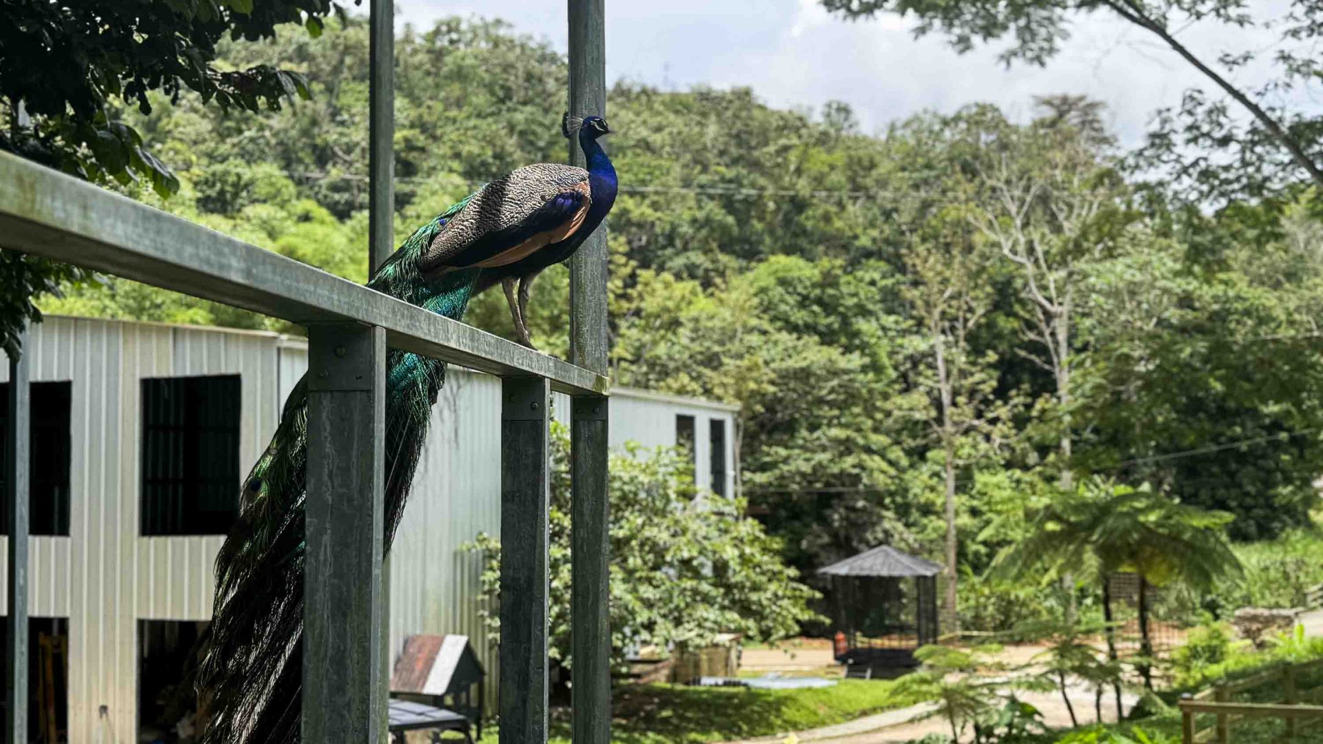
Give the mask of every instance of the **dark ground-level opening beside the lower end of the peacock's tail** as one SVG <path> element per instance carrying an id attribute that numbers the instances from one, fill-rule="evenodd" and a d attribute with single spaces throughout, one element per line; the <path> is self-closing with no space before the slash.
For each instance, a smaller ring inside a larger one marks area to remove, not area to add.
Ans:
<path id="1" fill-rule="evenodd" d="M 138 740 L 197 740 L 197 695 L 189 679 L 192 654 L 206 622 L 138 621 Z"/>

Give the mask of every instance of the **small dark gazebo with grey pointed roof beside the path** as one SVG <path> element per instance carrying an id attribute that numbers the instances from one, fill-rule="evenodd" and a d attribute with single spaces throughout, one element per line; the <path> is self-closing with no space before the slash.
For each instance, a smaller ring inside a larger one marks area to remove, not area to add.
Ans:
<path id="1" fill-rule="evenodd" d="M 878 545 L 818 569 L 831 579 L 835 657 L 848 676 L 894 676 L 918 666 L 914 650 L 937 642 L 942 567 Z M 913 579 L 913 589 L 905 586 Z"/>

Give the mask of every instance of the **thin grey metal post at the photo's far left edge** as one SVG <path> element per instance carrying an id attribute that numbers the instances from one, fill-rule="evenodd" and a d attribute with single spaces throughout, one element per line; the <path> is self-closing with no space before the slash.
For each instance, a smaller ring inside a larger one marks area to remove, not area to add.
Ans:
<path id="1" fill-rule="evenodd" d="M 26 351 L 28 332 L 19 334 L 19 348 Z M 9 417 L 5 430 L 5 514 L 9 518 L 8 549 L 8 628 L 5 631 L 7 744 L 28 744 L 28 357 L 9 359 Z"/>

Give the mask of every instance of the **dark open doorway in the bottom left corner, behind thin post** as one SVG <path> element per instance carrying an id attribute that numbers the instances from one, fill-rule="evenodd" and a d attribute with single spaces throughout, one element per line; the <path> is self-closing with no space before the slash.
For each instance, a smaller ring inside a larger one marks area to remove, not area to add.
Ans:
<path id="1" fill-rule="evenodd" d="M 9 633 L 9 618 L 0 617 L 0 634 Z M 0 669 L 9 663 L 0 643 Z M 69 740 L 69 620 L 28 618 L 28 741 L 57 744 Z M 0 706 L 3 725 L 9 711 Z"/>

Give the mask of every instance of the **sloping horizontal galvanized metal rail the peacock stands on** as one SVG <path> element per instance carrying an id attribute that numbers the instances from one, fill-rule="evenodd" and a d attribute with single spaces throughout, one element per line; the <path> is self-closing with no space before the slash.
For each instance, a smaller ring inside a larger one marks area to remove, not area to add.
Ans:
<path id="1" fill-rule="evenodd" d="M 0 152 L 0 246 L 56 258 L 302 326 L 378 326 L 393 348 L 500 376 L 546 377 L 570 395 L 607 379 Z"/>

